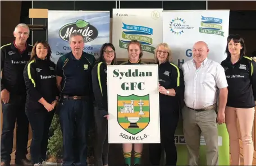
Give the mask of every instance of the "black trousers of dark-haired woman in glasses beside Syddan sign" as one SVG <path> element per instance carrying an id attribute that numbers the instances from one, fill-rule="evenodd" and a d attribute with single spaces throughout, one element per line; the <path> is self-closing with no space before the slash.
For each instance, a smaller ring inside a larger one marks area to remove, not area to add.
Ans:
<path id="1" fill-rule="evenodd" d="M 94 146 L 95 166 L 108 165 L 108 120 L 97 113 L 95 117 L 96 141 Z"/>

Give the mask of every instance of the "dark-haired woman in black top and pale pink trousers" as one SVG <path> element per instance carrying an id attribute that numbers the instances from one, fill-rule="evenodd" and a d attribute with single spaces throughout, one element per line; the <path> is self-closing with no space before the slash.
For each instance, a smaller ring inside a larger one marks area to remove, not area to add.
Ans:
<path id="1" fill-rule="evenodd" d="M 230 139 L 231 165 L 240 165 L 239 120 L 243 141 L 244 165 L 252 165 L 252 130 L 256 100 L 256 62 L 245 56 L 245 43 L 240 35 L 229 35 L 226 47 L 227 58 L 221 62 L 228 83 L 225 121 Z"/>

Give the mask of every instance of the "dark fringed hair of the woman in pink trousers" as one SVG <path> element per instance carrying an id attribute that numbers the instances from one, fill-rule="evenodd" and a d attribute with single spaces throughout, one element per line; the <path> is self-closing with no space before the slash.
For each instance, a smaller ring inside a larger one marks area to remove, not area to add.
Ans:
<path id="1" fill-rule="evenodd" d="M 238 34 L 231 34 L 227 37 L 227 46 L 226 46 L 226 50 L 225 50 L 225 53 L 227 54 L 227 56 L 229 56 L 229 57 L 231 56 L 231 54 L 228 50 L 228 43 L 230 43 L 230 41 L 232 39 L 233 39 L 234 43 L 241 44 L 241 47 L 243 47 L 243 48 L 241 49 L 240 56 L 245 56 L 246 48 L 245 48 L 244 39 Z"/>

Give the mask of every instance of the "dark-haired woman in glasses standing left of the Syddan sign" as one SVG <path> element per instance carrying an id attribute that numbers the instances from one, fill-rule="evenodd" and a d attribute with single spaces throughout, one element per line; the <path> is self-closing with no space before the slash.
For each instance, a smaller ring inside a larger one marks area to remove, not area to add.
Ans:
<path id="1" fill-rule="evenodd" d="M 108 165 L 108 101 L 107 101 L 107 65 L 116 64 L 115 47 L 105 43 L 100 48 L 100 56 L 92 70 L 93 93 L 96 108 L 94 118 L 96 125 L 95 166 Z"/>

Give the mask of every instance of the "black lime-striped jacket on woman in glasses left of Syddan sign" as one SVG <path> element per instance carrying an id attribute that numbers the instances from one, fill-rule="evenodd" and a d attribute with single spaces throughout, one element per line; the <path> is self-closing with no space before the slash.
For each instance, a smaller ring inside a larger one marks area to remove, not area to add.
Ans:
<path id="1" fill-rule="evenodd" d="M 107 64 L 105 62 L 96 63 L 92 70 L 93 93 L 95 104 L 101 116 L 108 114 L 108 94 L 107 94 Z"/>

